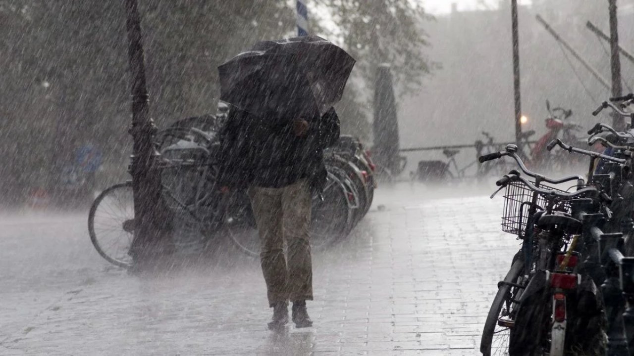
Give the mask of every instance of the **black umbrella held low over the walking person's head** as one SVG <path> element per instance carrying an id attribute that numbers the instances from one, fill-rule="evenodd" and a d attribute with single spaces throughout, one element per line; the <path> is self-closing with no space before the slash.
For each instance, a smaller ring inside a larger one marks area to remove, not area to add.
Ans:
<path id="1" fill-rule="evenodd" d="M 260 41 L 218 67 L 220 99 L 257 116 L 323 115 L 341 99 L 354 62 L 318 36 Z"/>

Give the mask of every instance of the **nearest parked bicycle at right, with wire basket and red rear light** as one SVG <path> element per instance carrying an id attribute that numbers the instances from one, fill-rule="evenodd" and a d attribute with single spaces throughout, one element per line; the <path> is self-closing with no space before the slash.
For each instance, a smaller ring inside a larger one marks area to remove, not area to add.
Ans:
<path id="1" fill-rule="evenodd" d="M 486 162 L 502 156 L 513 158 L 535 182 L 517 170 L 496 182 L 498 191 L 506 189 L 502 230 L 518 236 L 522 248 L 505 279 L 498 283 L 482 332 L 481 352 L 485 356 L 563 355 L 564 350 L 577 346 L 566 345 L 567 322 L 585 317 L 568 310 L 567 300 L 575 302 L 582 295 L 578 290 L 582 279 L 590 283 L 588 277 L 575 270 L 581 257 L 579 250 L 583 250 L 578 238 L 582 224 L 571 212 L 575 201 L 598 200 L 602 194 L 595 187 L 585 186 L 580 175 L 552 179 L 531 172 L 513 144 L 479 160 Z M 571 181 L 578 189 L 574 193 L 544 184 Z M 591 340 L 598 343 L 598 339 L 594 335 Z"/>

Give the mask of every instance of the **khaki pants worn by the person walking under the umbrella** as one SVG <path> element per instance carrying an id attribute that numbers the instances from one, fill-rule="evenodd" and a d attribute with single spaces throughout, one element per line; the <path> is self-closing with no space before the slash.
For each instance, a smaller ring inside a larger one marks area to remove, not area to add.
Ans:
<path id="1" fill-rule="evenodd" d="M 260 260 L 269 306 L 313 300 L 313 267 L 308 228 L 311 193 L 306 179 L 283 188 L 249 188 L 260 236 Z M 288 256 L 284 255 L 286 241 Z"/>

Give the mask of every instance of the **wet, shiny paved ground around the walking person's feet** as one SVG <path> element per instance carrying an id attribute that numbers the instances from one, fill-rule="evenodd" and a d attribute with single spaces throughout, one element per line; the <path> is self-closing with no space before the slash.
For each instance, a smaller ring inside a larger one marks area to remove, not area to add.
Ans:
<path id="1" fill-rule="evenodd" d="M 85 214 L 0 216 L 0 355 L 479 355 L 519 247 L 492 190 L 382 186 L 346 241 L 314 253 L 314 327 L 280 333 L 259 262 L 224 243 L 134 277 L 94 251 Z"/>

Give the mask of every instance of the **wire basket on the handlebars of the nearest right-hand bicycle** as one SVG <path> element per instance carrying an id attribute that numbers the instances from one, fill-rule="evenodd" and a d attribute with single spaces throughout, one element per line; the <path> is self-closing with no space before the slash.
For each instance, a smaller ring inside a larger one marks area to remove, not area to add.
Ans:
<path id="1" fill-rule="evenodd" d="M 564 192 L 557 188 L 552 188 L 540 184 L 541 189 Z M 523 236 L 526 231 L 526 222 L 528 220 L 528 210 L 533 201 L 533 191 L 522 182 L 510 182 L 504 193 L 504 210 L 502 212 L 502 231 Z M 538 210 L 546 210 L 548 200 L 541 194 L 537 195 L 536 205 Z M 570 212 L 569 201 L 557 201 L 553 203 L 553 211 Z"/>

